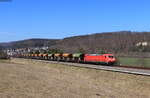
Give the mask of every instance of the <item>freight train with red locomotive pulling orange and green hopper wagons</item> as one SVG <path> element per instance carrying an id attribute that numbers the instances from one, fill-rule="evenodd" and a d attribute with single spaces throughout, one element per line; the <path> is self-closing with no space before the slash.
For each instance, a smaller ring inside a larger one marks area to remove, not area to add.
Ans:
<path id="1" fill-rule="evenodd" d="M 116 58 L 113 54 L 83 54 L 83 53 L 55 53 L 55 54 L 21 54 L 17 57 L 28 59 L 40 59 L 50 61 L 65 61 L 76 63 L 95 63 L 114 65 Z"/>

